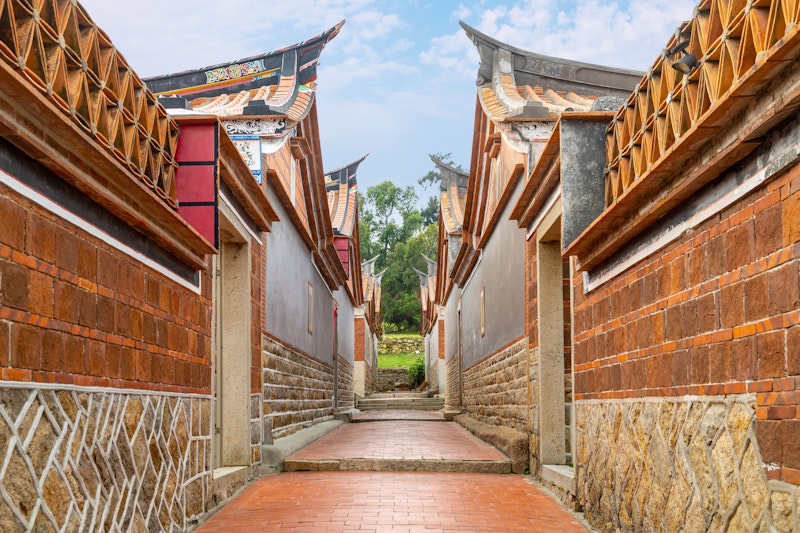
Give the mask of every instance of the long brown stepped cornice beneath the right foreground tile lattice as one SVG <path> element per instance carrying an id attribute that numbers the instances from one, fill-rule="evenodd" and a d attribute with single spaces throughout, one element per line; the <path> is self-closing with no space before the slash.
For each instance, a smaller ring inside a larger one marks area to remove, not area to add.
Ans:
<path id="1" fill-rule="evenodd" d="M 761 136 L 796 113 L 800 27 L 792 31 L 782 47 L 764 53 L 726 97 L 564 248 L 563 255 L 578 256 L 583 270 L 598 265 L 758 148 Z"/>

